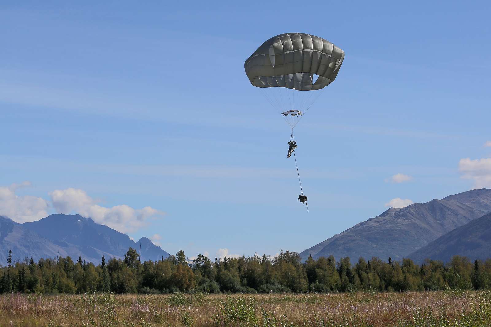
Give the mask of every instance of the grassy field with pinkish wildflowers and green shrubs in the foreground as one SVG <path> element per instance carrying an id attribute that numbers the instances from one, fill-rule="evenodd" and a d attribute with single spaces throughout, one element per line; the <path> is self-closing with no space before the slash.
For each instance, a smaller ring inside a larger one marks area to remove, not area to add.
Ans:
<path id="1" fill-rule="evenodd" d="M 0 296 L 0 326 L 491 326 L 491 291 Z"/>

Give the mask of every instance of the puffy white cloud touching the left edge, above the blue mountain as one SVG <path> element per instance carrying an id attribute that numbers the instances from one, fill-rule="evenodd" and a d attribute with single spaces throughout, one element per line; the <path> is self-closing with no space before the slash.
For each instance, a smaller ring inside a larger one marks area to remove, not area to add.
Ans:
<path id="1" fill-rule="evenodd" d="M 30 186 L 28 181 L 0 187 L 0 216 L 6 216 L 18 223 L 32 222 L 48 216 L 48 201 L 15 194 L 17 189 L 27 186 Z"/>

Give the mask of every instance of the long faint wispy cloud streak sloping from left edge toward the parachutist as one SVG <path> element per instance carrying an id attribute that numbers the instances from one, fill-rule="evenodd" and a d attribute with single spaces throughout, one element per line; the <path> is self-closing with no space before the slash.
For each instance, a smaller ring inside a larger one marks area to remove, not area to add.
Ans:
<path id="1" fill-rule="evenodd" d="M 14 75 L 14 72 L 9 73 Z M 28 80 L 28 75 L 25 78 Z M 14 81 L 2 83 L 0 81 L 0 103 L 28 105 L 55 111 L 78 112 L 143 122 L 158 121 L 187 126 L 227 126 L 245 129 L 253 127 L 265 130 L 277 128 L 281 130 L 281 125 L 268 124 L 267 118 L 258 122 L 257 119 L 244 117 L 244 115 L 203 115 L 203 111 L 196 109 L 196 103 L 192 101 L 182 102 L 181 110 L 178 111 L 163 110 L 162 99 L 152 99 L 149 96 L 146 99 L 142 97 L 144 99 L 140 98 L 135 101 L 133 97 L 124 93 L 102 93 L 95 88 L 90 89 L 91 83 L 85 81 L 85 84 L 87 87 L 84 88 L 84 92 L 80 92 L 77 89 L 69 89 L 66 85 L 42 85 Z M 125 85 L 124 88 L 131 89 L 132 85 Z M 170 106 L 169 104 L 169 109 Z"/>

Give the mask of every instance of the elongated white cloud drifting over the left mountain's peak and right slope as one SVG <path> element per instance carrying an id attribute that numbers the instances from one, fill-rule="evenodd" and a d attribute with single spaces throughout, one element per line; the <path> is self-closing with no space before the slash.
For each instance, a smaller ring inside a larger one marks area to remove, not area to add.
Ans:
<path id="1" fill-rule="evenodd" d="M 83 217 L 90 217 L 98 224 L 107 225 L 120 232 L 135 231 L 145 226 L 150 217 L 163 215 L 163 212 L 149 206 L 143 209 L 134 209 L 126 204 L 107 208 L 96 204 L 98 201 L 89 197 L 81 189 L 67 188 L 55 190 L 50 194 L 56 212 L 69 214 L 79 213 Z"/>

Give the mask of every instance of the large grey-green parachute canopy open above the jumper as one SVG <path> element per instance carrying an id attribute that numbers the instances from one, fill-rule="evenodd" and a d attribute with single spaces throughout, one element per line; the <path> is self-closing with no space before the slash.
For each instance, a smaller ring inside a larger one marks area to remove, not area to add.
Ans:
<path id="1" fill-rule="evenodd" d="M 320 90 L 329 85 L 343 63 L 344 51 L 320 37 L 285 33 L 264 42 L 244 68 L 252 85 Z M 314 75 L 318 75 L 314 81 Z"/>

